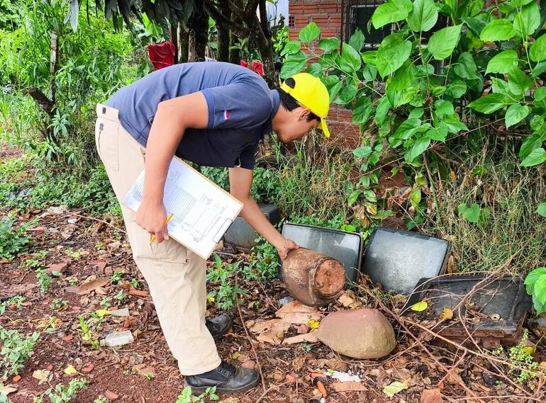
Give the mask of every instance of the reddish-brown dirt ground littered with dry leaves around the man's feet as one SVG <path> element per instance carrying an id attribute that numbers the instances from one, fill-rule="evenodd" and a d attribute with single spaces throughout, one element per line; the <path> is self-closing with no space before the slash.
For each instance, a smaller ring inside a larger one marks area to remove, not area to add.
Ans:
<path id="1" fill-rule="evenodd" d="M 30 220 L 39 215 L 44 215 L 44 212 L 35 210 L 21 218 Z M 23 334 L 42 331 L 33 356 L 19 374 L 21 380 L 6 382 L 6 385 L 17 388 L 17 392 L 9 395 L 10 401 L 33 402 L 34 396 L 50 386 L 48 382 L 39 385 L 33 373 L 36 370 L 49 370 L 53 374 L 51 385 L 58 382 L 67 384 L 72 378 L 83 377 L 89 380 L 89 388 L 78 392 L 77 398 L 71 402 L 91 403 L 106 391 L 119 395 L 116 399 L 118 402 L 175 402 L 182 391 L 183 378 L 169 353 L 147 286 L 131 259 L 121 229 L 109 227 L 78 212 L 46 212 L 45 217 L 40 217 L 39 225 L 31 228 L 30 237 L 33 246 L 28 253 L 20 254 L 12 262 L 0 262 L 0 297 L 26 297 L 21 310 L 8 307 L 0 324 Z M 97 250 L 99 245 L 104 249 Z M 27 263 L 36 259 L 33 253 L 38 251 L 48 251 L 45 258 L 40 259 L 45 266 L 61 265 L 50 267 L 63 270 L 47 293 L 40 292 L 34 270 Z M 65 264 L 66 268 L 63 267 Z M 76 279 L 72 283 L 77 285 L 96 278 L 109 280 L 114 271 L 123 271 L 123 279 L 117 284 L 108 282 L 104 287 L 85 295 L 69 292 L 71 279 Z M 132 289 L 129 282 L 133 278 L 140 283 L 139 295 L 128 293 Z M 113 297 L 120 291 L 125 295 L 123 300 L 112 300 L 113 305 L 108 309 L 129 307 L 130 317 L 105 316 L 100 328 L 92 331 L 93 339 L 101 339 L 108 332 L 125 329 L 130 329 L 138 336 L 133 344 L 95 349 L 89 341 L 83 339 L 79 317 L 89 318 L 97 310 L 104 309 L 100 304 L 103 297 Z M 250 291 L 247 300 L 260 301 L 265 309 L 257 312 L 243 306 L 241 312 L 245 322 L 272 317 L 280 307 L 279 298 L 288 295 L 279 280 L 265 284 L 263 289 Z M 50 304 L 55 298 L 66 300 L 66 308 L 52 309 Z M 228 313 L 234 319 L 233 333 L 218 341 L 218 351 L 232 363 L 252 365 L 255 357 L 241 326 L 238 310 Z M 52 316 L 55 319 L 50 319 Z M 44 329 L 48 326 L 50 329 Z M 311 373 L 327 368 L 358 370 L 359 367 L 359 363 L 345 363 L 335 358 L 330 348 L 321 344 L 311 346 L 308 352 L 297 345 L 271 346 L 255 340 L 252 342 L 262 366 L 264 385 L 267 390 L 273 388 L 263 397 L 262 402 L 309 402 L 317 397 L 316 387 L 311 385 Z M 73 365 L 78 373 L 66 375 L 64 370 L 68 365 Z M 146 376 L 148 373 L 152 375 Z M 287 383 L 287 374 L 294 375 L 296 383 Z M 260 385 L 246 395 L 222 398 L 226 402 L 256 402 L 263 394 Z M 360 392 L 335 393 L 327 399 L 328 402 L 388 401 L 377 385 L 369 385 L 367 390 Z"/>

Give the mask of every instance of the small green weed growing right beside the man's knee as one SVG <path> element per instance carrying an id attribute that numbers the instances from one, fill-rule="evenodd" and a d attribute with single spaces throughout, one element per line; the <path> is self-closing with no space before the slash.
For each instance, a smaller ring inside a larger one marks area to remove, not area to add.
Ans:
<path id="1" fill-rule="evenodd" d="M 235 271 L 242 261 L 224 264 L 218 254 L 214 254 L 214 261 L 214 266 L 208 268 L 206 279 L 217 287 L 208 293 L 207 299 L 216 302 L 221 310 L 228 310 L 235 307 L 238 298 L 247 293 L 238 284 L 232 284 L 230 281 L 234 280 Z"/>

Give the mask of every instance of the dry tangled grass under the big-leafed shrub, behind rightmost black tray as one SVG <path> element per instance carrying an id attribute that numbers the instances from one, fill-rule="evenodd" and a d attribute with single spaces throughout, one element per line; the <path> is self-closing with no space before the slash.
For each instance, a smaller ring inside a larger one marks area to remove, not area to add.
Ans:
<path id="1" fill-rule="evenodd" d="M 536 209 L 546 195 L 545 175 L 544 166 L 520 167 L 511 152 L 497 162 L 469 159 L 455 181 L 443 183 L 438 214 L 429 216 L 426 231 L 450 241 L 457 271 L 489 271 L 513 255 L 506 273 L 544 266 L 546 219 Z M 462 203 L 489 209 L 489 217 L 469 222 L 458 213 Z"/>

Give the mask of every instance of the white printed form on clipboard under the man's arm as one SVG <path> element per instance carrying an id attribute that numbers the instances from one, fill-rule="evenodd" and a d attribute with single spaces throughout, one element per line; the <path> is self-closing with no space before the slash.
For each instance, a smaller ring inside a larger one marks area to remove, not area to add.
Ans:
<path id="1" fill-rule="evenodd" d="M 144 171 L 127 193 L 123 204 L 138 210 L 143 198 Z M 208 259 L 216 244 L 243 208 L 243 203 L 176 157 L 165 182 L 163 204 L 172 219 L 169 237 Z"/>

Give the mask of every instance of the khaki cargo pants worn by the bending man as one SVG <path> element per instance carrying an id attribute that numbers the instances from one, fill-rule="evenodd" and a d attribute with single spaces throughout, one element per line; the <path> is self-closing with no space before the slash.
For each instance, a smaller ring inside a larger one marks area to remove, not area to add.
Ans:
<path id="1" fill-rule="evenodd" d="M 145 148 L 123 128 L 118 110 L 96 106 L 95 142 L 120 204 L 144 169 Z M 173 239 L 150 245 L 150 234 L 136 223 L 136 213 L 121 204 L 133 259 L 150 288 L 167 344 L 182 375 L 196 375 L 220 365 L 205 327 L 206 265 Z"/>

